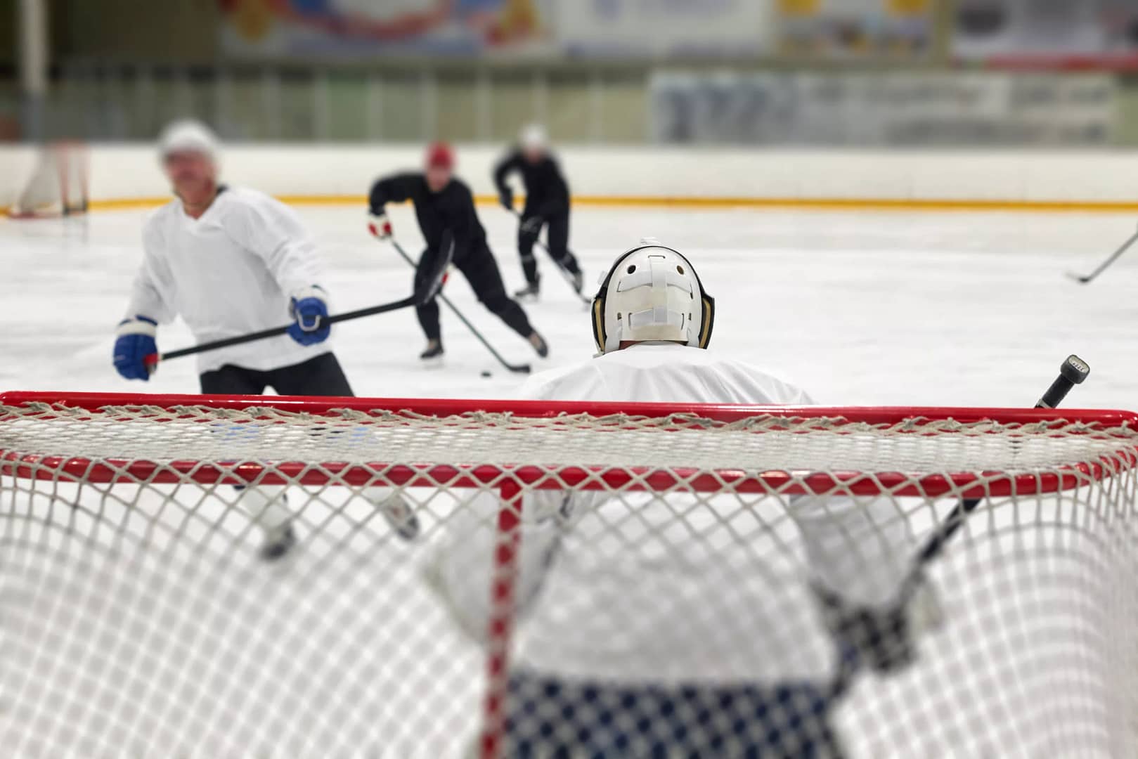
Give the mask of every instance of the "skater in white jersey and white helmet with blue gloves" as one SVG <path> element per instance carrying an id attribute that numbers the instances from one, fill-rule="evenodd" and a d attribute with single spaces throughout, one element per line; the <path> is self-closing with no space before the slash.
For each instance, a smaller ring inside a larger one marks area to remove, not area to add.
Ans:
<path id="1" fill-rule="evenodd" d="M 143 257 L 114 364 L 126 379 L 147 380 L 158 349 L 157 325 L 182 320 L 199 343 L 278 327 L 287 336 L 198 354 L 203 393 L 351 396 L 328 343 L 328 295 L 315 245 L 284 204 L 217 178 L 217 139 L 203 124 L 176 122 L 159 139 L 159 158 L 175 198 L 142 233 Z M 406 538 L 418 521 L 402 498 L 365 494 Z M 296 543 L 284 489 L 247 488 L 238 503 L 265 529 L 262 554 L 283 555 Z"/>

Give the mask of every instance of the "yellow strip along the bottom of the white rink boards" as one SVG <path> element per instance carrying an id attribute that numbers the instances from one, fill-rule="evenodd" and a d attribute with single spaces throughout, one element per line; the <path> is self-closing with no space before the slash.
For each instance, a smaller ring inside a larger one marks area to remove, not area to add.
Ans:
<path id="1" fill-rule="evenodd" d="M 283 195 L 282 203 L 297 206 L 366 206 L 358 195 Z M 478 196 L 487 206 L 497 203 L 494 196 Z M 671 207 L 671 208 L 757 208 L 800 211 L 893 211 L 893 212 L 1029 212 L 1029 213 L 1138 213 L 1136 200 L 932 200 L 918 198 L 698 198 L 649 196 L 576 196 L 575 206 L 597 207 Z M 126 211 L 155 208 L 168 198 L 114 198 L 92 200 L 92 211 Z M 0 206 L 0 214 L 7 213 Z"/>

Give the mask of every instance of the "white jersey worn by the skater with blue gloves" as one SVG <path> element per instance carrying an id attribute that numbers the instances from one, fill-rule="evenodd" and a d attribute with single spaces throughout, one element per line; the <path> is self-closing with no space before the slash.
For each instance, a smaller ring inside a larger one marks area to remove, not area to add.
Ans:
<path id="1" fill-rule="evenodd" d="M 200 218 L 172 200 L 147 221 L 143 258 L 126 317 L 159 324 L 181 316 L 200 343 L 288 324 L 292 294 L 320 283 L 315 245 L 296 213 L 246 188 L 228 188 Z M 224 364 L 267 371 L 331 350 L 287 335 L 207 350 L 198 371 Z"/>

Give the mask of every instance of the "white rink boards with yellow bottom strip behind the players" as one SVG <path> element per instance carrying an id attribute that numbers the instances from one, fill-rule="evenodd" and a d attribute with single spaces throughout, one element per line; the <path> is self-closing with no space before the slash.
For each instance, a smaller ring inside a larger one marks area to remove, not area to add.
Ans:
<path id="1" fill-rule="evenodd" d="M 577 204 L 926 209 L 1138 211 L 1138 151 L 867 151 L 568 147 Z M 379 174 L 411 170 L 420 146 L 232 146 L 224 176 L 297 204 L 362 203 Z M 500 150 L 460 146 L 459 171 L 492 200 Z M 35 163 L 0 147 L 0 207 Z M 151 146 L 92 146 L 96 208 L 168 197 Z"/>

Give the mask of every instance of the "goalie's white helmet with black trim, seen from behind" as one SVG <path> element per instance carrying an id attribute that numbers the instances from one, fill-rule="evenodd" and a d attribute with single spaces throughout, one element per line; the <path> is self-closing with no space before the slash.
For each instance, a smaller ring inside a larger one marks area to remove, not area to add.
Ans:
<path id="1" fill-rule="evenodd" d="M 601 353 L 625 340 L 670 340 L 706 348 L 715 298 L 678 250 L 646 238 L 626 251 L 593 298 L 593 339 Z"/>

